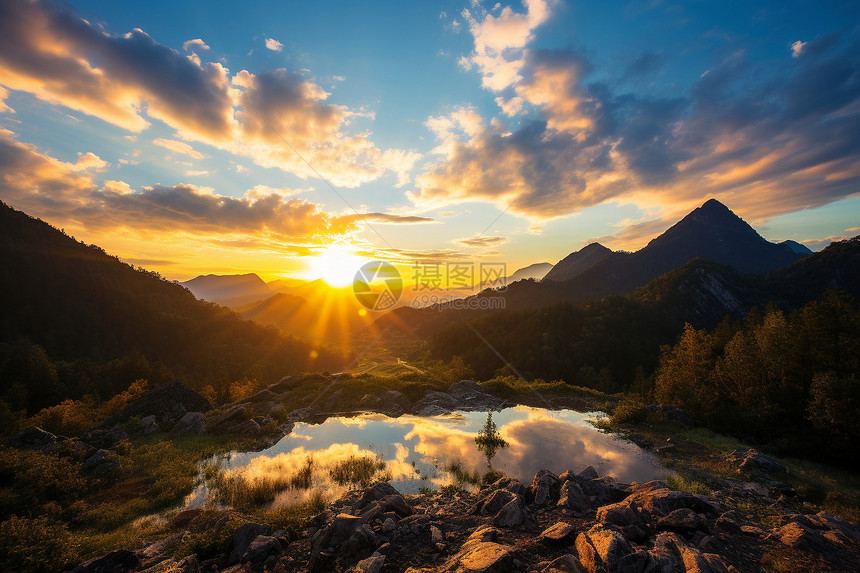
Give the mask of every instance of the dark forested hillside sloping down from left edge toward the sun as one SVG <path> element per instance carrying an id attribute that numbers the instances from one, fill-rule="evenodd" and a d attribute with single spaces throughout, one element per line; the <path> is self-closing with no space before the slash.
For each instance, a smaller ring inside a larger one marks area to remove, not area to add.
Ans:
<path id="1" fill-rule="evenodd" d="M 342 361 L 2 203 L 0 260 L 0 399 L 15 408 L 107 397 L 136 378 L 222 391 Z"/>

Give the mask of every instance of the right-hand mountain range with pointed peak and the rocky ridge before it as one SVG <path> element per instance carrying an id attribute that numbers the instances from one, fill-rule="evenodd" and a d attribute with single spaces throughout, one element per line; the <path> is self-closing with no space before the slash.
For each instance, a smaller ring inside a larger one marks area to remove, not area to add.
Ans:
<path id="1" fill-rule="evenodd" d="M 380 318 L 377 326 L 397 326 L 423 337 L 492 313 L 498 306 L 490 304 L 490 298 L 501 299 L 507 311 L 516 311 L 583 304 L 637 289 L 642 297 L 660 293 L 661 300 L 674 301 L 680 314 L 689 312 L 691 320 L 709 324 L 767 300 L 803 304 L 831 287 L 860 294 L 860 271 L 852 266 L 856 246 L 856 241 L 849 241 L 810 254 L 794 241 L 771 243 L 712 199 L 635 253 L 592 243 L 562 259 L 540 282 L 521 281 L 504 291 L 487 290 L 471 297 L 475 300 L 463 305 L 469 310 L 402 308 Z"/>

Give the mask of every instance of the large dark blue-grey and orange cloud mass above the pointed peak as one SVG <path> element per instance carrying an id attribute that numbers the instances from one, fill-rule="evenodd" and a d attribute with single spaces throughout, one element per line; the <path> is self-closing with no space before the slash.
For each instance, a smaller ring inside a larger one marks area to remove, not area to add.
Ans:
<path id="1" fill-rule="evenodd" d="M 491 42 L 511 47 L 516 74 L 488 83 L 479 71 L 503 114 L 525 115 L 509 126 L 466 106 L 428 118 L 436 159 L 407 192 L 419 207 L 486 201 L 535 222 L 621 201 L 662 219 L 711 196 L 761 221 L 860 190 L 856 31 L 810 40 L 793 61 L 737 53 L 687 94 L 647 97 L 592 80 L 573 50 L 530 48 L 522 14 L 507 39 L 484 39 L 490 17 L 474 19 L 470 62 Z"/>

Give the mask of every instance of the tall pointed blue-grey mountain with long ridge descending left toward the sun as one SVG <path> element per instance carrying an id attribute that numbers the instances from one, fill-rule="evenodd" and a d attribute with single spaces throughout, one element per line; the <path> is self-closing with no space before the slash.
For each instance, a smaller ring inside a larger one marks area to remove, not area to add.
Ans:
<path id="1" fill-rule="evenodd" d="M 453 322 L 472 320 L 499 308 L 515 311 L 558 303 L 585 304 L 633 293 L 697 258 L 745 276 L 766 275 L 804 255 L 789 245 L 765 240 L 725 205 L 711 199 L 635 253 L 615 252 L 593 243 L 565 257 L 540 282 L 520 281 L 504 292 L 484 291 L 470 297 L 476 300 L 461 305 L 470 310 L 397 309 L 380 319 L 378 326 L 395 326 L 402 332 L 426 336 Z M 569 278 L 555 280 L 553 276 Z M 771 294 L 781 297 L 776 291 Z"/>

